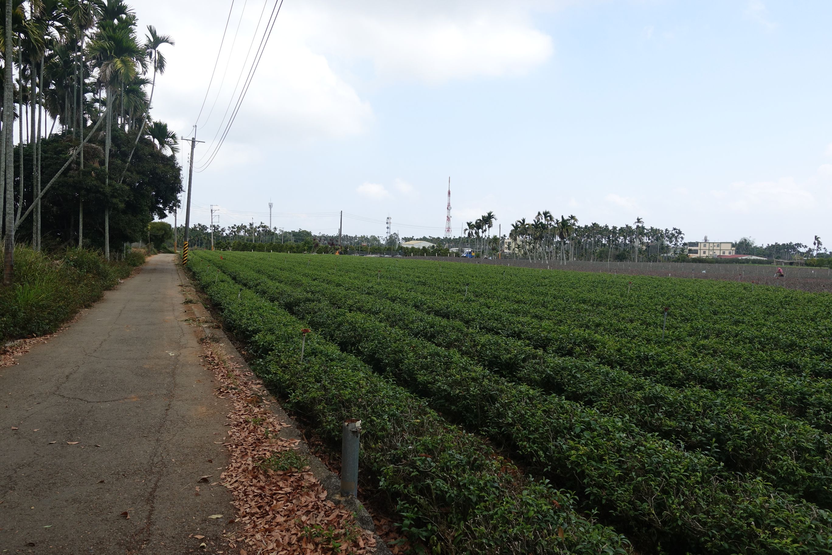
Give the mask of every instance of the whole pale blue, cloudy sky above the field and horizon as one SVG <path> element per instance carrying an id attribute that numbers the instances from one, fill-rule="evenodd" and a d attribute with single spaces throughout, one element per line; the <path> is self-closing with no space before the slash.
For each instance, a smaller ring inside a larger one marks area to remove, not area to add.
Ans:
<path id="1" fill-rule="evenodd" d="M 176 40 L 154 117 L 190 136 L 202 112 L 193 221 L 268 223 L 272 201 L 286 229 L 343 210 L 345 233 L 442 235 L 450 176 L 455 234 L 550 210 L 832 241 L 832 2 L 285 0 L 205 166 L 273 2 L 235 0 L 204 107 L 230 0 L 131 2 Z"/>

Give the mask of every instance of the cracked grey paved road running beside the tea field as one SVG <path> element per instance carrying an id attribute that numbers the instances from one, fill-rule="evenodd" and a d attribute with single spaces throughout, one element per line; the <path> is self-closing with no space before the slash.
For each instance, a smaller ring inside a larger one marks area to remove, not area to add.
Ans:
<path id="1" fill-rule="evenodd" d="M 230 406 L 183 283 L 174 255 L 153 256 L 0 368 L 0 553 L 230 553 L 235 511 L 215 483 Z"/>

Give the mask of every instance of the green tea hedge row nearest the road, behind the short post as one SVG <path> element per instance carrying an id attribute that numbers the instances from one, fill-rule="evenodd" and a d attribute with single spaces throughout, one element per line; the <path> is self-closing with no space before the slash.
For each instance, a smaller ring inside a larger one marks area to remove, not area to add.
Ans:
<path id="1" fill-rule="evenodd" d="M 224 253 L 224 255 L 227 255 Z M 611 528 L 577 513 L 575 498 L 532 480 L 478 437 L 344 354 L 307 324 L 193 252 L 196 280 L 224 325 L 257 356 L 253 369 L 288 408 L 335 448 L 344 419 L 362 420 L 360 464 L 404 518 L 409 538 L 433 553 L 627 553 Z"/>

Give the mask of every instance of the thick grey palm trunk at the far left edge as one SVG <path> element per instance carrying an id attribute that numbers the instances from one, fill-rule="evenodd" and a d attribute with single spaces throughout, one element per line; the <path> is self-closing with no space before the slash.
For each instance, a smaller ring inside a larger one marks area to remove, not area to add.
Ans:
<path id="1" fill-rule="evenodd" d="M 12 21 L 12 2 L 6 2 L 6 19 Z M 12 147 L 13 135 L 12 126 L 14 121 L 14 73 L 12 72 L 12 26 L 6 25 L 6 64 L 3 77 L 3 111 L 2 131 L 5 136 L 5 174 L 6 174 L 6 235 L 3 240 L 3 271 L 2 283 L 6 286 L 12 285 L 14 279 L 14 151 Z"/>

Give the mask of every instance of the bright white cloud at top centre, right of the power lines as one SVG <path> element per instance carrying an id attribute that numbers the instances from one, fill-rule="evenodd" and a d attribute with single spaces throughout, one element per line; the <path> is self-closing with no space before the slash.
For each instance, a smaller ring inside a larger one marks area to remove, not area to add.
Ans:
<path id="1" fill-rule="evenodd" d="M 524 5 L 484 2 L 306 2 L 293 14 L 308 43 L 377 77 L 430 83 L 523 75 L 552 56 L 552 37 Z"/>

